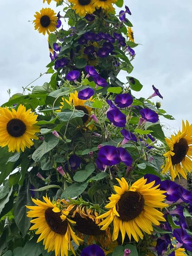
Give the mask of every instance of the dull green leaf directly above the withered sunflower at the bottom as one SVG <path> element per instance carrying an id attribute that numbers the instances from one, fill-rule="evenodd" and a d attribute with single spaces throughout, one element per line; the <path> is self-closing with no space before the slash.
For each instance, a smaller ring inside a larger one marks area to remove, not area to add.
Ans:
<path id="1" fill-rule="evenodd" d="M 66 190 L 64 190 L 64 192 L 61 195 L 61 198 L 67 199 L 68 197 L 73 198 L 75 196 L 79 196 L 83 193 L 83 191 L 85 191 L 85 189 L 87 188 L 88 183 L 73 183 L 72 185 L 70 185 L 68 188 L 66 188 Z"/>

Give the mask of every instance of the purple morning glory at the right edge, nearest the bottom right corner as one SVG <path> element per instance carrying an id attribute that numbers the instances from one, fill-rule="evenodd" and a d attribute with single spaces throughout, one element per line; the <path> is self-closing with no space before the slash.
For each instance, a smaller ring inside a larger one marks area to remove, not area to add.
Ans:
<path id="1" fill-rule="evenodd" d="M 173 236 L 177 239 L 177 248 L 183 246 L 186 250 L 192 252 L 192 237 L 188 235 L 186 230 L 176 228 L 173 230 Z"/>

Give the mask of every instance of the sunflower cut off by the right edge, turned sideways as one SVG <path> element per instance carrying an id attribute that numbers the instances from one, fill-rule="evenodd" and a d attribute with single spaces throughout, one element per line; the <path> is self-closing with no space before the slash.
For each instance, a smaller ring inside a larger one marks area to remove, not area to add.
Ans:
<path id="1" fill-rule="evenodd" d="M 183 121 L 182 131 L 171 135 L 171 139 L 165 138 L 169 150 L 164 154 L 166 163 L 161 167 L 162 174 L 170 170 L 172 181 L 176 176 L 183 176 L 187 179 L 187 172 L 192 169 L 192 124 Z"/>

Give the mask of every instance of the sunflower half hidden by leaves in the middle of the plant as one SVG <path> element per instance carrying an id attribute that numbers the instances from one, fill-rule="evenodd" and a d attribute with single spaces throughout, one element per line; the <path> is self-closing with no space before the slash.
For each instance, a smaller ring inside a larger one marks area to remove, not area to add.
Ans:
<path id="1" fill-rule="evenodd" d="M 62 98 L 62 100 L 64 100 L 64 98 Z M 78 92 L 75 90 L 75 92 L 73 93 L 70 93 L 70 96 L 69 96 L 69 100 L 65 99 L 65 101 L 69 104 L 69 105 L 73 105 L 75 107 L 75 109 L 77 110 L 81 110 L 85 113 L 85 115 L 83 115 L 83 117 L 81 117 L 82 121 L 83 121 L 83 124 L 84 126 L 87 126 L 87 124 L 91 121 L 91 111 L 92 111 L 92 108 L 85 105 L 85 102 L 87 100 L 80 100 L 78 98 Z M 93 97 L 91 96 L 88 101 L 94 101 Z M 63 106 L 64 103 L 63 102 L 60 102 L 61 105 Z M 62 106 L 60 107 L 60 109 L 62 109 Z M 88 128 L 90 130 L 92 130 L 94 127 L 94 125 L 89 125 Z"/>

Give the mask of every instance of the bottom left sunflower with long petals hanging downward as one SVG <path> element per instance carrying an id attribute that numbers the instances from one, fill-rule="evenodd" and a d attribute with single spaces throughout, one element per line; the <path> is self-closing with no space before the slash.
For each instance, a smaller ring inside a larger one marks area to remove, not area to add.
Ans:
<path id="1" fill-rule="evenodd" d="M 77 245 L 82 241 L 71 228 L 71 223 L 75 224 L 75 222 L 68 218 L 69 212 L 61 212 L 51 203 L 50 198 L 43 196 L 43 199 L 45 203 L 32 198 L 37 206 L 26 206 L 31 210 L 27 212 L 27 216 L 35 218 L 31 220 L 34 225 L 30 230 L 37 229 L 36 234 L 41 234 L 37 243 L 43 240 L 45 250 L 48 249 L 47 252 L 55 250 L 55 256 L 68 256 L 69 250 L 75 255 L 71 238 Z"/>

